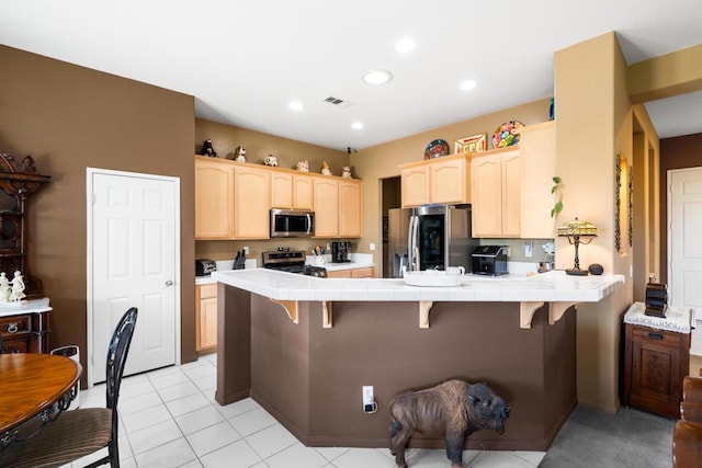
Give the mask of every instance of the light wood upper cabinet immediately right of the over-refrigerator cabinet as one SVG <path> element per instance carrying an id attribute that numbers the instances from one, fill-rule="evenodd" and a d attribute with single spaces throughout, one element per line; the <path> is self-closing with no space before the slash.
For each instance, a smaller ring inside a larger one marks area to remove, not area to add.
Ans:
<path id="1" fill-rule="evenodd" d="M 475 155 L 471 161 L 473 237 L 518 238 L 521 230 L 519 148 Z"/>

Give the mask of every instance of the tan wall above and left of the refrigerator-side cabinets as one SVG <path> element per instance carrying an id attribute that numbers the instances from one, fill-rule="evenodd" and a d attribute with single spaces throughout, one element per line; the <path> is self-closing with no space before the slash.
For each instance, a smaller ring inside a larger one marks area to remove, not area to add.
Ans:
<path id="1" fill-rule="evenodd" d="M 351 155 L 351 163 L 360 179 L 363 179 L 363 239 L 361 250 L 369 251 L 370 243 L 382 246 L 381 217 L 383 199 L 382 179 L 399 176 L 399 164 L 420 161 L 424 157 L 427 145 L 441 138 L 446 140 L 451 152 L 455 140 L 469 135 L 487 133 L 491 138 L 496 128 L 508 121 L 519 121 L 524 125 L 548 119 L 550 98 L 494 112 L 491 114 L 462 121 L 443 127 L 433 128 L 406 138 L 388 141 Z M 488 148 L 491 145 L 488 142 Z M 551 187 L 546 187 L 550 190 Z M 373 252 L 374 262 L 380 264 L 381 252 Z"/>

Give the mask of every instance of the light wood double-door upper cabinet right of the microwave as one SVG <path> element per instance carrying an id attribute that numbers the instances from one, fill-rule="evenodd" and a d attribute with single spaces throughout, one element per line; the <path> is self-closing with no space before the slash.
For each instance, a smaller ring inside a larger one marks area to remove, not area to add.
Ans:
<path id="1" fill-rule="evenodd" d="M 362 187 L 359 180 L 315 178 L 315 237 L 361 237 Z"/>

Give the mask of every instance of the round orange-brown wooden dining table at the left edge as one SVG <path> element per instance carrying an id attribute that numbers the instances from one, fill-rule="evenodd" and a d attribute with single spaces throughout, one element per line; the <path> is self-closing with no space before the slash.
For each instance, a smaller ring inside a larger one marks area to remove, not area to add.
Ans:
<path id="1" fill-rule="evenodd" d="M 50 418 L 66 409 L 81 374 L 82 366 L 66 356 L 0 354 L 0 438 L 8 444 L 18 425 L 37 414 Z M 57 402 L 61 403 L 54 406 Z"/>

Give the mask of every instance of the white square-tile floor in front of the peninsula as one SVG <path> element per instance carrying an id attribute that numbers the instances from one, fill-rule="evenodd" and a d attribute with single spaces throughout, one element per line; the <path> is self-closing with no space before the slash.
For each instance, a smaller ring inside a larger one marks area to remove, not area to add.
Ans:
<path id="1" fill-rule="evenodd" d="M 312 448 L 256 401 L 214 400 L 216 356 L 122 380 L 120 458 L 123 468 L 393 468 L 387 448 Z M 80 407 L 102 407 L 104 385 L 80 392 Z M 412 468 L 446 468 L 444 450 L 409 449 Z M 523 468 L 543 452 L 466 450 L 466 467 Z M 82 467 L 98 458 L 72 464 Z"/>

